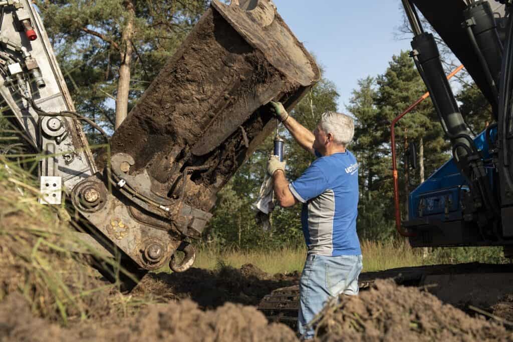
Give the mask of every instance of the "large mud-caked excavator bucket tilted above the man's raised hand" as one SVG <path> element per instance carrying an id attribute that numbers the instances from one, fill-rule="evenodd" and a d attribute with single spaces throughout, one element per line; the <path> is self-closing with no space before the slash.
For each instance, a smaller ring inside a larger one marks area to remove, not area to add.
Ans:
<path id="1" fill-rule="evenodd" d="M 269 0 L 212 0 L 111 140 L 153 194 L 209 211 L 215 193 L 290 110 L 319 69 Z"/>

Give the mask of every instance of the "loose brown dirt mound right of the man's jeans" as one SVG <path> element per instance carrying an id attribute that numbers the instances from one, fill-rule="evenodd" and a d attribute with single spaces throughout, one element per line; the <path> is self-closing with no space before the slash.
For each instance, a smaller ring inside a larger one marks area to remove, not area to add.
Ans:
<path id="1" fill-rule="evenodd" d="M 417 288 L 376 280 L 357 297 L 341 296 L 320 316 L 321 341 L 508 341 L 513 333 L 473 318 Z"/>

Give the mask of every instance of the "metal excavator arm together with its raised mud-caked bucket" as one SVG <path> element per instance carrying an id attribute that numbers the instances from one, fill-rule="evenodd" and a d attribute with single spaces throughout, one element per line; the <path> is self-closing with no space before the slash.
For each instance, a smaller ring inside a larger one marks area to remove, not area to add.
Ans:
<path id="1" fill-rule="evenodd" d="M 271 1 L 213 0 L 97 168 L 37 11 L 27 0 L 4 6 L 0 92 L 45 157 L 42 203 L 61 204 L 64 191 L 88 223 L 84 239 L 142 270 L 192 265 L 188 239 L 201 236 L 216 193 L 275 126 L 265 105 L 290 110 L 320 78 Z"/>

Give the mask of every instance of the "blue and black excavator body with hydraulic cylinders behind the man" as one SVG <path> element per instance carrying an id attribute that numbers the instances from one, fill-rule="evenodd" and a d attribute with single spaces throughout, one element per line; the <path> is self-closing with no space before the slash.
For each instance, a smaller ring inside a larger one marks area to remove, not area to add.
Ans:
<path id="1" fill-rule="evenodd" d="M 409 194 L 396 224 L 412 247 L 503 246 L 513 256 L 513 16 L 509 1 L 402 0 L 411 56 L 429 91 L 452 158 Z M 473 136 L 445 76 L 433 34 L 460 59 L 491 105 Z M 413 162 L 415 164 L 415 162 Z M 396 194 L 397 198 L 397 194 Z"/>

